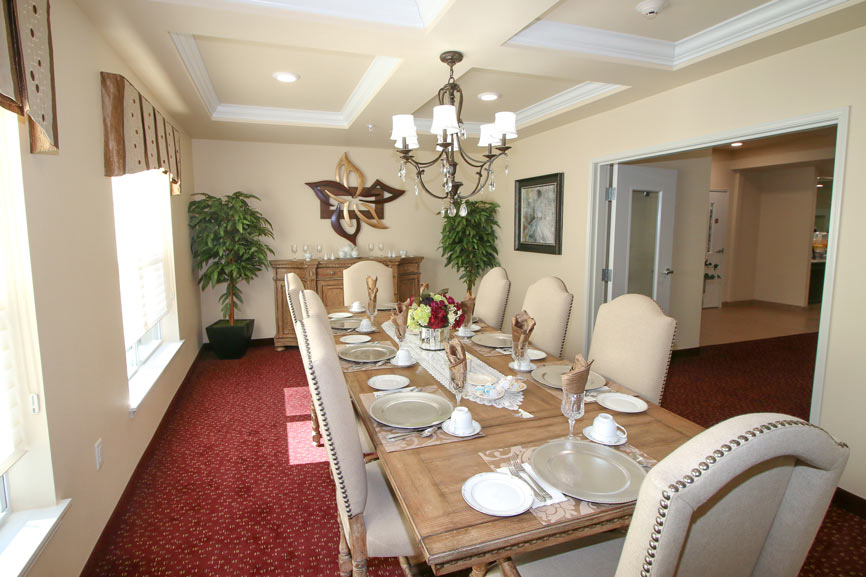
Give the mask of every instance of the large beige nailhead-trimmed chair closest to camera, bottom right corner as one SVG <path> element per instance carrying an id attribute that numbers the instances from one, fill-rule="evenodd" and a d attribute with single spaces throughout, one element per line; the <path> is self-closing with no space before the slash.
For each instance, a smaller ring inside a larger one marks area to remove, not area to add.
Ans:
<path id="1" fill-rule="evenodd" d="M 847 460 L 847 445 L 805 421 L 734 417 L 650 470 L 625 538 L 514 561 L 523 577 L 794 577 Z"/>

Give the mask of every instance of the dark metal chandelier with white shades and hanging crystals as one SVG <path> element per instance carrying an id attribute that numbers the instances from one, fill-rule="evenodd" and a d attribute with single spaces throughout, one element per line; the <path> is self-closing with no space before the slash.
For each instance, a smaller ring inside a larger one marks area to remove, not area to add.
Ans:
<path id="1" fill-rule="evenodd" d="M 459 212 L 460 216 L 466 216 L 467 198 L 478 194 L 485 187 L 495 190 L 493 164 L 500 156 L 505 157 L 505 174 L 508 174 L 507 153 L 511 147 L 507 145 L 507 139 L 517 138 L 517 115 L 514 112 L 497 112 L 493 123 L 481 125 L 478 146 L 486 148 L 486 154 L 475 158 L 467 153 L 464 144 L 467 140 L 466 127 L 461 118 L 463 91 L 454 80 L 454 65 L 463 60 L 463 54 L 450 50 L 440 54 L 439 60 L 448 65 L 449 75 L 448 82 L 439 89 L 439 106 L 433 107 L 433 123 L 430 126 L 430 132 L 437 137 L 438 154 L 426 162 L 416 160 L 413 156 L 412 151 L 418 148 L 418 132 L 411 114 L 397 114 L 392 117 L 391 140 L 394 141 L 394 147 L 398 149 L 401 159 L 398 176 L 403 181 L 406 180 L 407 165 L 415 171 L 415 194 L 418 194 L 419 187 L 423 188 L 431 196 L 444 201 L 443 215 L 447 213 L 454 216 Z M 457 169 L 461 161 L 466 165 L 466 171 L 474 175 L 470 178 L 475 180 L 471 189 L 458 180 Z M 425 182 L 425 171 L 436 165 L 441 172 L 441 192 L 434 192 L 439 186 L 431 187 Z"/>

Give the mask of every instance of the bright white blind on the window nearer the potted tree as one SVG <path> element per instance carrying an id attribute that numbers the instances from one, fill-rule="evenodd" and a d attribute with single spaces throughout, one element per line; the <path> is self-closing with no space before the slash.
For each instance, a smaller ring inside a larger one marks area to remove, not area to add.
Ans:
<path id="1" fill-rule="evenodd" d="M 132 346 L 174 298 L 169 177 L 149 170 L 112 180 L 123 338 Z"/>

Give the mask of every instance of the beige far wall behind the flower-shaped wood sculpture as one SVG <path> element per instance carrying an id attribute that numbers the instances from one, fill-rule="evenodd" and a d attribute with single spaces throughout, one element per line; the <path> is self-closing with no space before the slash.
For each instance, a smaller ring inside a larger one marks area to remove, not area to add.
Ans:
<path id="1" fill-rule="evenodd" d="M 386 138 L 384 133 L 378 138 Z M 440 201 L 422 192 L 416 197 L 411 177 L 406 183 L 397 176 L 399 157 L 393 150 L 381 148 L 344 148 L 195 140 L 193 157 L 196 192 L 224 195 L 243 190 L 261 198 L 260 210 L 274 225 L 270 243 L 274 258 L 293 258 L 291 245 L 322 243 L 326 252 L 334 253 L 346 240 L 331 228 L 329 220 L 319 218 L 319 200 L 305 182 L 333 180 L 334 169 L 343 152 L 364 173 L 367 183 L 376 179 L 406 193 L 385 206 L 387 229 L 364 225 L 358 235 L 361 256 L 369 254 L 367 244 L 385 244 L 385 251 L 405 249 L 411 255 L 424 257 L 422 280 L 433 288 L 450 288 L 462 296 L 465 287 L 457 274 L 444 268 L 438 252 L 442 218 L 436 215 Z M 255 201 L 253 201 L 255 202 Z M 187 233 L 188 237 L 188 233 Z M 378 254 L 378 246 L 374 248 Z M 262 272 L 249 286 L 242 285 L 244 306 L 241 316 L 256 319 L 254 338 L 274 336 L 274 288 L 270 270 Z M 202 323 L 207 326 L 220 318 L 218 293 L 208 290 L 202 295 Z"/>

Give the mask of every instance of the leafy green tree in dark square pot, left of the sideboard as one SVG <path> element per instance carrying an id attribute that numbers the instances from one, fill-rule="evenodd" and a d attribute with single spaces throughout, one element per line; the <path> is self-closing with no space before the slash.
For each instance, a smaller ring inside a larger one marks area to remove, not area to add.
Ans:
<path id="1" fill-rule="evenodd" d="M 221 359 L 239 359 L 253 336 L 255 319 L 236 319 L 243 296 L 238 284 L 249 283 L 268 267 L 274 251 L 265 238 L 274 238 L 273 227 L 248 199 L 259 197 L 237 191 L 228 196 L 194 194 L 189 203 L 189 229 L 193 266 L 202 290 L 224 284 L 220 295 L 223 318 L 205 331 L 211 347 Z"/>

